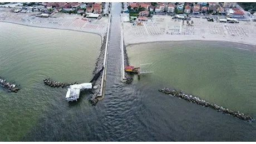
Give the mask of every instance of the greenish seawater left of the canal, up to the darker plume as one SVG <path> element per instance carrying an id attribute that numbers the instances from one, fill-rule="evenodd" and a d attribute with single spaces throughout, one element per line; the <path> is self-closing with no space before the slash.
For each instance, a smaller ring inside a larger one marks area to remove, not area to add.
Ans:
<path id="1" fill-rule="evenodd" d="M 100 42 L 95 34 L 0 23 L 0 76 L 21 85 L 18 93 L 0 88 L 0 141 L 19 141 L 49 105 L 68 105 L 66 89 L 42 80 L 90 81 Z"/>

